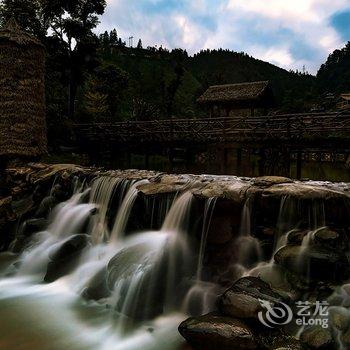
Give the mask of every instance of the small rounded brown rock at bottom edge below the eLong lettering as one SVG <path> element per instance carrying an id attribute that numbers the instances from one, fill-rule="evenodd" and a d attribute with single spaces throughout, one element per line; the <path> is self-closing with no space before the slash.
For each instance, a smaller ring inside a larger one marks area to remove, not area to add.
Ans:
<path id="1" fill-rule="evenodd" d="M 321 326 L 306 328 L 301 333 L 300 341 L 309 349 L 314 350 L 331 350 L 336 348 L 331 331 Z"/>

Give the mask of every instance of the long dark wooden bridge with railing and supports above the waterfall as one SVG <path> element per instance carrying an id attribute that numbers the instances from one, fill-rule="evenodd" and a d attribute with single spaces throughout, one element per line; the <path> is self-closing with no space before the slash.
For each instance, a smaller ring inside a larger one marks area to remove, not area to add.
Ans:
<path id="1" fill-rule="evenodd" d="M 77 124 L 75 131 L 92 158 L 110 150 L 112 157 L 138 153 L 148 166 L 150 155 L 162 153 L 172 168 L 182 159 L 188 170 L 198 163 L 216 173 L 290 175 L 294 162 L 300 178 L 303 161 L 345 164 L 350 158 L 350 112 Z M 254 156 L 255 170 L 244 171 L 243 158 Z"/>

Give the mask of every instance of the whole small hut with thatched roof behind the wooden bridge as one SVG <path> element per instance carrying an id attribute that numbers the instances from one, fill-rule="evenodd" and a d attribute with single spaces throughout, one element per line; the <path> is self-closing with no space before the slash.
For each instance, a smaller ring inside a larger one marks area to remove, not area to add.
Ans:
<path id="1" fill-rule="evenodd" d="M 268 81 L 215 85 L 197 100 L 210 110 L 212 117 L 258 116 L 268 113 L 274 105 Z"/>

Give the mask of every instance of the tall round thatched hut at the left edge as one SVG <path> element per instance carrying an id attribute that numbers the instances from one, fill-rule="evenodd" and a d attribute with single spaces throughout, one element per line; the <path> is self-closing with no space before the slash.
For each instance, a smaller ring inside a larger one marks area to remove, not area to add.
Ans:
<path id="1" fill-rule="evenodd" d="M 0 30 L 0 156 L 31 159 L 47 151 L 45 50 L 15 20 Z"/>

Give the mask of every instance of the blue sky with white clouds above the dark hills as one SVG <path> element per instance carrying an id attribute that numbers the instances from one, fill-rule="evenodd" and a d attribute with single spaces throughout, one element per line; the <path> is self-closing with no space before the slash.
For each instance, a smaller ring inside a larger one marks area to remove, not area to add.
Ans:
<path id="1" fill-rule="evenodd" d="M 315 74 L 350 40 L 350 0 L 107 0 L 99 32 L 143 46 L 224 48 Z"/>

